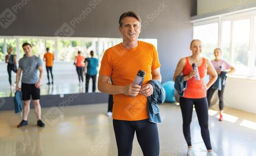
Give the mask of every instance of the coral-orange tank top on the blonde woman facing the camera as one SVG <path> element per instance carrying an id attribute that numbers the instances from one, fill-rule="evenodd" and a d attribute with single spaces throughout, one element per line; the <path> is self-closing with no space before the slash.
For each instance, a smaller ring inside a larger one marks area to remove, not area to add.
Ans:
<path id="1" fill-rule="evenodd" d="M 201 66 L 198 66 L 197 68 L 200 75 L 200 80 L 195 81 L 194 77 L 188 80 L 187 89 L 184 91 L 184 98 L 201 99 L 206 97 L 206 91 L 201 88 L 201 84 L 203 83 L 203 79 L 206 74 L 205 58 L 202 58 Z M 188 57 L 186 57 L 186 65 L 182 71 L 183 75 L 189 75 L 192 69 L 193 68 L 189 63 Z"/>

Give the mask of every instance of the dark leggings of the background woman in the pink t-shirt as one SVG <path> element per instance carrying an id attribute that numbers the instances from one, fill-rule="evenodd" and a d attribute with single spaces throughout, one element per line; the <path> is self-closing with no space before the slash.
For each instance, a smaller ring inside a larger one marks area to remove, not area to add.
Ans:
<path id="1" fill-rule="evenodd" d="M 224 94 L 225 85 L 221 85 L 221 90 L 218 90 L 218 96 L 219 96 L 219 110 L 223 110 L 224 103 L 223 103 L 223 94 Z M 210 107 L 210 100 L 216 90 L 212 89 L 212 86 L 207 90 L 207 100 L 208 105 Z"/>

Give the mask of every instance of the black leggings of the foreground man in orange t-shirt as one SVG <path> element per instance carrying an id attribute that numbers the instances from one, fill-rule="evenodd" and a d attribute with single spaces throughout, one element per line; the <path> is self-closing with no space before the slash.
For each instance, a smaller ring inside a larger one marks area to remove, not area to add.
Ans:
<path id="1" fill-rule="evenodd" d="M 124 121 L 113 119 L 118 156 L 131 156 L 134 133 L 144 156 L 159 156 L 159 137 L 156 123 L 148 119 Z"/>

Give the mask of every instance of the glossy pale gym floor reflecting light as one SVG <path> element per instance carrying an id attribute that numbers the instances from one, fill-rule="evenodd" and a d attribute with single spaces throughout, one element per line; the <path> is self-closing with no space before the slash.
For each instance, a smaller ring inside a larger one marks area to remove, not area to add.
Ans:
<path id="1" fill-rule="evenodd" d="M 19 129 L 19 115 L 0 111 L 0 156 L 117 156 L 112 120 L 105 115 L 106 109 L 107 104 L 43 108 L 45 128 L 37 127 L 31 109 L 28 125 Z M 225 110 L 228 121 L 223 122 L 218 121 L 218 113 L 210 111 L 213 149 L 219 156 L 256 156 L 256 115 Z M 165 103 L 160 111 L 160 156 L 186 156 L 180 107 Z M 197 156 L 206 156 L 195 111 L 191 132 Z M 136 137 L 132 156 L 142 156 Z"/>

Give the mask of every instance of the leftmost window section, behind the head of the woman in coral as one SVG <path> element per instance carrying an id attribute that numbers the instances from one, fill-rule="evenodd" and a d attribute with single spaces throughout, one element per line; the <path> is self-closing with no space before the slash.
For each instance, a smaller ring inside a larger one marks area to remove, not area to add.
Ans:
<path id="1" fill-rule="evenodd" d="M 213 50 L 218 46 L 218 23 L 194 26 L 194 39 L 202 41 L 202 56 L 213 59 Z"/>

